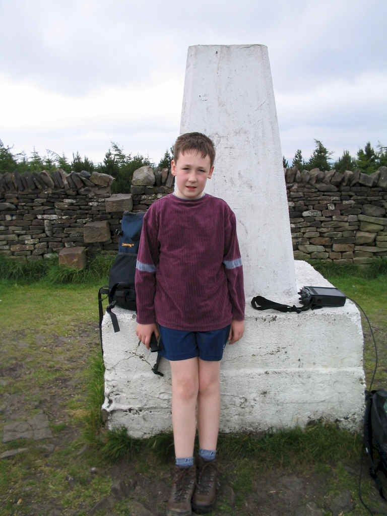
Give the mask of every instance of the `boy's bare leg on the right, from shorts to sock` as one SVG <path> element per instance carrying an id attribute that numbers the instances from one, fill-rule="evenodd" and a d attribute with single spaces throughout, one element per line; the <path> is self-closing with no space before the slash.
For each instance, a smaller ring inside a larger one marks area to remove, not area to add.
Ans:
<path id="1" fill-rule="evenodd" d="M 199 359 L 198 433 L 199 446 L 216 450 L 220 415 L 220 360 Z"/>

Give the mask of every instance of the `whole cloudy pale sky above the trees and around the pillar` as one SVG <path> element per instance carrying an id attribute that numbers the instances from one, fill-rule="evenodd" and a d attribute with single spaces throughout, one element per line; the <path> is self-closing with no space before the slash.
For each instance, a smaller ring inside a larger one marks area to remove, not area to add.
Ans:
<path id="1" fill-rule="evenodd" d="M 158 163 L 179 135 L 190 45 L 268 47 L 282 154 L 387 146 L 385 0 L 0 0 L 0 139 Z"/>

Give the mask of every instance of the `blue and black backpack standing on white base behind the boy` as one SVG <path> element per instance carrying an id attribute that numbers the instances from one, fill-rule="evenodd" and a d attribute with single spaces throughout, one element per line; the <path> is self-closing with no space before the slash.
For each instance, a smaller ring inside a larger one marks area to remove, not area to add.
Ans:
<path id="1" fill-rule="evenodd" d="M 124 212 L 122 215 L 121 230 L 116 231 L 116 234 L 120 235 L 120 240 L 116 261 L 111 266 L 109 272 L 109 286 L 103 286 L 98 291 L 102 353 L 102 295 L 105 294 L 108 296 L 109 304 L 106 308 L 106 312 L 111 317 L 115 332 L 120 331 L 120 327 L 118 325 L 117 316 L 112 312 L 112 309 L 118 305 L 126 310 L 137 310 L 134 276 L 144 215 L 145 212 Z"/>

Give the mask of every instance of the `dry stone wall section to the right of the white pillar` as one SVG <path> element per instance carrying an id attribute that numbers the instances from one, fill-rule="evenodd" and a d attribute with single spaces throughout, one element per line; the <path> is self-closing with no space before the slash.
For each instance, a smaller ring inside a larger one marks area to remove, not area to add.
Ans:
<path id="1" fill-rule="evenodd" d="M 294 257 L 370 264 L 387 255 L 387 167 L 285 173 Z"/>

